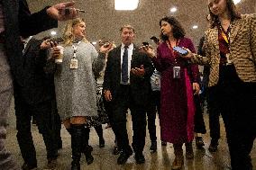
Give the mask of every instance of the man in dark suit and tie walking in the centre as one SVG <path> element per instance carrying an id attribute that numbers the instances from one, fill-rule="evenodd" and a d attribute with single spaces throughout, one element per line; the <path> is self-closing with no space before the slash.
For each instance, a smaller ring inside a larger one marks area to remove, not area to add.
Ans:
<path id="1" fill-rule="evenodd" d="M 145 158 L 142 154 L 146 135 L 146 112 L 151 91 L 153 66 L 150 58 L 134 44 L 134 29 L 131 25 L 121 28 L 122 44 L 110 51 L 104 76 L 105 100 L 113 105 L 113 129 L 117 145 L 123 150 L 117 164 L 123 165 L 135 152 L 137 164 Z M 129 145 L 126 130 L 126 113 L 131 110 L 133 120 L 133 150 Z"/>

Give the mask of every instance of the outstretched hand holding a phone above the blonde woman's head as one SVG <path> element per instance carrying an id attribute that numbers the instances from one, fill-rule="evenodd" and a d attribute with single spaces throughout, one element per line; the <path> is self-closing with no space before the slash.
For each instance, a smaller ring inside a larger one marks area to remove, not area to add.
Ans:
<path id="1" fill-rule="evenodd" d="M 54 4 L 48 8 L 46 12 L 55 20 L 67 21 L 78 16 L 78 11 L 74 8 L 74 4 L 75 2 L 73 1 L 68 3 Z"/>

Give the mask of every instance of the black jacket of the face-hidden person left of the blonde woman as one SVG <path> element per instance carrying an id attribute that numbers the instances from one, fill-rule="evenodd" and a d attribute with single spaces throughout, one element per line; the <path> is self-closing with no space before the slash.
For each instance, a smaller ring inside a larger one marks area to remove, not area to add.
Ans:
<path id="1" fill-rule="evenodd" d="M 23 52 L 23 85 L 14 83 L 14 97 L 25 103 L 37 104 L 54 99 L 53 74 L 46 74 L 46 50 L 40 50 L 42 40 L 31 39 Z"/>

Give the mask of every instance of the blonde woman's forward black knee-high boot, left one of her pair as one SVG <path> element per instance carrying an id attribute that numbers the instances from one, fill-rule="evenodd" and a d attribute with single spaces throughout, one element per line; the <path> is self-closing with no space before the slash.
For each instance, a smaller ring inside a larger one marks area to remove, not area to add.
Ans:
<path id="1" fill-rule="evenodd" d="M 71 148 L 72 148 L 72 163 L 71 170 L 80 170 L 81 146 L 83 145 L 85 125 L 71 124 Z"/>

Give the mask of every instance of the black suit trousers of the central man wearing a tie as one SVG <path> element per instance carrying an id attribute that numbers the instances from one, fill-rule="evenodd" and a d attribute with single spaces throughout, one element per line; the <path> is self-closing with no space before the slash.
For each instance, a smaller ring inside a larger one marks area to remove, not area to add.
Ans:
<path id="1" fill-rule="evenodd" d="M 117 139 L 117 145 L 123 152 L 131 152 L 126 129 L 126 113 L 131 110 L 133 121 L 133 151 L 142 153 L 146 136 L 146 111 L 144 107 L 133 102 L 130 85 L 121 85 L 113 102 L 113 128 Z"/>

